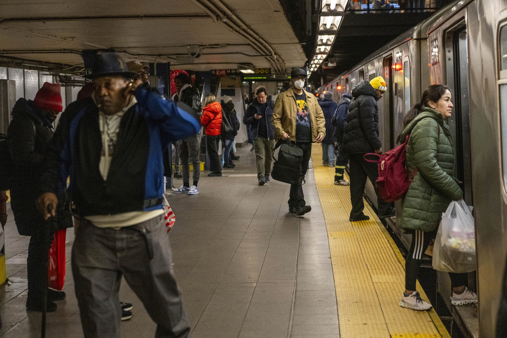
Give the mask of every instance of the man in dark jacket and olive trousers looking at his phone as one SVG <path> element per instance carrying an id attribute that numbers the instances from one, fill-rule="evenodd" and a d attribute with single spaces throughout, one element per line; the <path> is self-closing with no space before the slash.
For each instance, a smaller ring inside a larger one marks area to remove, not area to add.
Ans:
<path id="1" fill-rule="evenodd" d="M 275 146 L 275 128 L 271 123 L 273 102 L 268 98 L 266 87 L 257 87 L 255 96 L 256 98 L 246 108 L 243 123 L 250 126 L 257 164 L 257 179 L 259 185 L 264 185 L 270 181 Z"/>

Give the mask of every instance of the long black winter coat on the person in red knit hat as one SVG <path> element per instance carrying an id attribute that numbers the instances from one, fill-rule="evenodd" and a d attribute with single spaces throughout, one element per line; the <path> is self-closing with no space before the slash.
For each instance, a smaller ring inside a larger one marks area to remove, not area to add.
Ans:
<path id="1" fill-rule="evenodd" d="M 53 137 L 53 126 L 33 101 L 20 98 L 12 109 L 12 121 L 7 131 L 9 151 L 14 165 L 11 187 L 11 208 L 18 232 L 32 236 L 42 229 L 44 219 L 35 207 L 39 196 L 39 179 L 43 171 L 44 152 Z M 51 232 L 72 226 L 72 216 L 66 208 L 67 193 L 59 196 L 57 216 L 52 218 Z"/>

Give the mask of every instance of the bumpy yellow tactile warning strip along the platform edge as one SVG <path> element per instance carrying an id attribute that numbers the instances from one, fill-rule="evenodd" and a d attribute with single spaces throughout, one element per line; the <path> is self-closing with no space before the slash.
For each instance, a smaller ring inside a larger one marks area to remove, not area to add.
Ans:
<path id="1" fill-rule="evenodd" d="M 333 184 L 334 168 L 322 166 L 322 147 L 312 148 L 313 170 L 328 229 L 342 337 L 450 337 L 431 310 L 400 307 L 405 259 L 365 201 L 370 220 L 349 222 L 350 189 Z M 346 177 L 348 179 L 348 177 Z M 427 301 L 417 283 L 417 290 Z"/>

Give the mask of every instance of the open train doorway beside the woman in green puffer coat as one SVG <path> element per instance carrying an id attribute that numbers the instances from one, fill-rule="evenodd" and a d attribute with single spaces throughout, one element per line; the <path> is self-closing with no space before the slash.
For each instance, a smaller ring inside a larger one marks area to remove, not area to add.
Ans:
<path id="1" fill-rule="evenodd" d="M 456 144 L 457 176 L 463 182 L 467 205 L 473 205 L 472 154 L 470 149 L 470 118 L 468 90 L 468 45 L 465 22 L 446 32 L 447 79 L 453 96 L 453 116 L 447 123 Z"/>

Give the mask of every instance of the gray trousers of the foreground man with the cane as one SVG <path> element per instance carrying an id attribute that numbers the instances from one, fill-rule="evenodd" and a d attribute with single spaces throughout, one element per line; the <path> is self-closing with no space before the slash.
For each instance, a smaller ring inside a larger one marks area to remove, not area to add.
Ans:
<path id="1" fill-rule="evenodd" d="M 158 216 L 119 230 L 97 228 L 81 220 L 72 250 L 72 271 L 86 338 L 120 336 L 122 276 L 157 323 L 155 337 L 189 336 L 162 220 Z"/>

